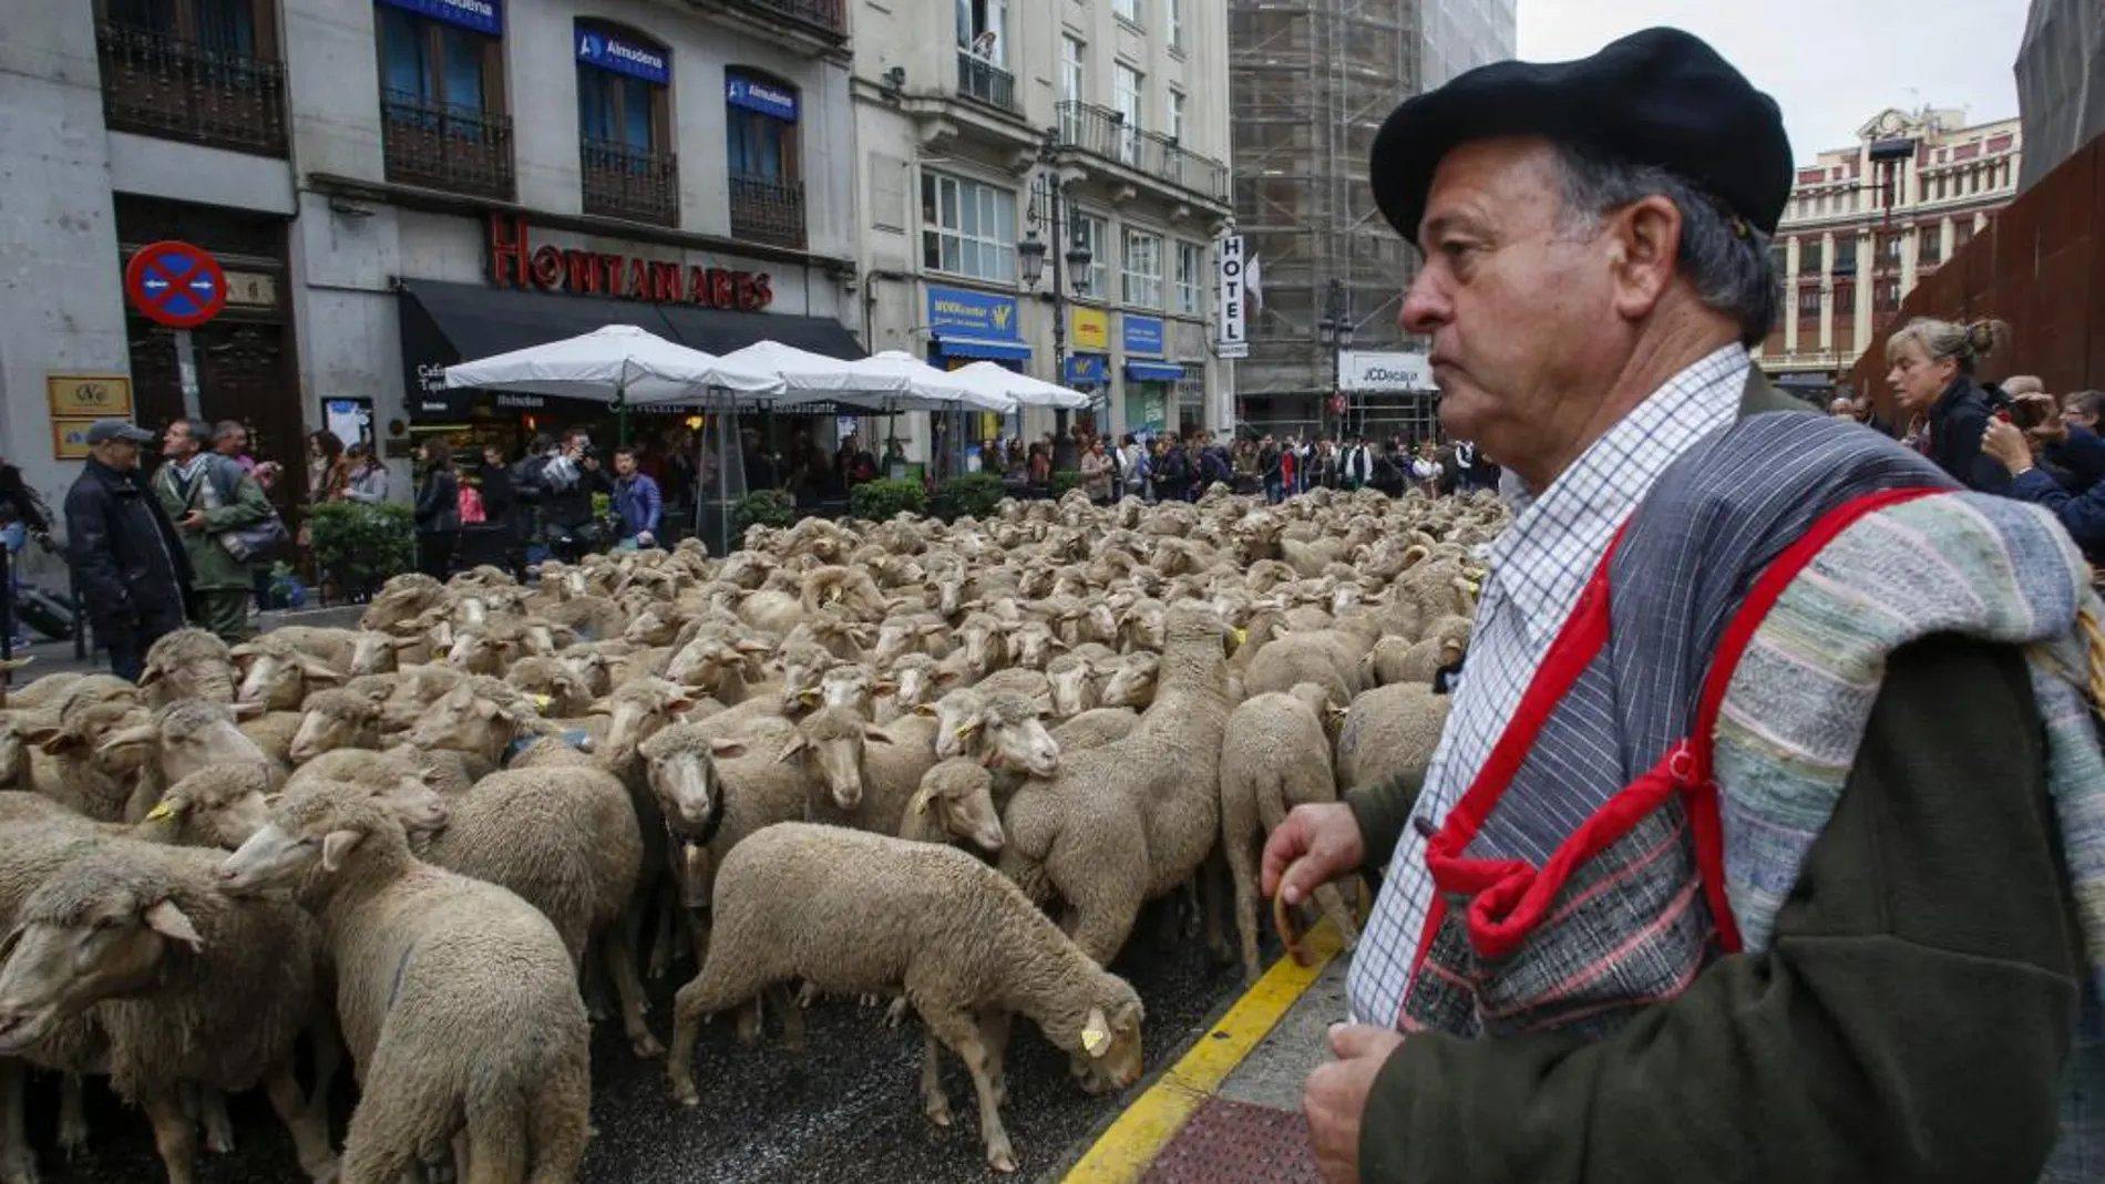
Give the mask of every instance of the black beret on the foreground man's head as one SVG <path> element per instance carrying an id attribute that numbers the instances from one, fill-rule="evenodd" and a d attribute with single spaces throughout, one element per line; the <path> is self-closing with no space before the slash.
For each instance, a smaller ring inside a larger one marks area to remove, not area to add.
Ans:
<path id="1" fill-rule="evenodd" d="M 1375 137 L 1375 204 L 1417 244 L 1446 154 L 1509 135 L 1665 168 L 1762 233 L 1777 233 L 1791 198 L 1791 141 L 1777 101 L 1701 38 L 1644 29 L 1593 57 L 1497 61 L 1406 99 Z"/>

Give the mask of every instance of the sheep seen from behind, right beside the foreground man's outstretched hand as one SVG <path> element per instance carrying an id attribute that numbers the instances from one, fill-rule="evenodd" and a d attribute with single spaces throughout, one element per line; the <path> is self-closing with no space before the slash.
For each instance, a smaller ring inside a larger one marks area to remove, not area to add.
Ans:
<path id="1" fill-rule="evenodd" d="M 1236 930 L 1242 936 L 1242 974 L 1257 982 L 1257 856 L 1286 812 L 1295 805 L 1337 801 L 1330 772 L 1326 715 L 1330 694 L 1316 683 L 1299 683 L 1292 694 L 1259 694 L 1227 717 L 1221 747 L 1221 850 L 1236 881 Z M 1316 900 L 1351 942 L 1351 911 L 1335 885 L 1316 890 Z"/>

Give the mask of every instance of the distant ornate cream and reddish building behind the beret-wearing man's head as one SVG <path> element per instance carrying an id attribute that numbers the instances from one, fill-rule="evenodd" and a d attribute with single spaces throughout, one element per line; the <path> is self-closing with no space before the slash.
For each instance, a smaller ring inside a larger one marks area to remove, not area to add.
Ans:
<path id="1" fill-rule="evenodd" d="M 2017 198 L 2017 120 L 1962 111 L 1871 118 L 1852 147 L 1798 170 L 1777 227 L 1779 318 L 1758 362 L 1808 397 L 1831 391 L 1901 299 Z"/>

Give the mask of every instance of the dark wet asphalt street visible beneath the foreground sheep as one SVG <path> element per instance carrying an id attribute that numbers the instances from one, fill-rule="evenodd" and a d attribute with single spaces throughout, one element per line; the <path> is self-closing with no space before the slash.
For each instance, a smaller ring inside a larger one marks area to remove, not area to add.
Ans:
<path id="1" fill-rule="evenodd" d="M 1238 995 L 1242 976 L 1212 965 L 1204 942 L 1158 953 L 1151 930 L 1135 932 L 1114 965 L 1147 1005 L 1149 1077 L 1170 1064 Z M 674 982 L 650 984 L 653 1028 L 669 1039 Z M 638 1062 L 619 1022 L 594 1028 L 594 1102 L 598 1138 L 581 1184 L 947 1184 L 998 1178 L 979 1140 L 979 1108 L 964 1066 L 945 1054 L 943 1083 L 956 1123 L 937 1129 L 922 1117 L 922 1035 L 909 1018 L 884 1026 L 884 1009 L 815 1003 L 806 1012 L 810 1049 L 794 1058 L 775 1024 L 756 1047 L 730 1039 L 730 1016 L 703 1028 L 695 1077 L 701 1106 L 682 1110 L 665 1089 L 663 1062 Z M 476 1039 L 476 1033 L 463 1033 Z M 48 1083 L 46 1083 L 48 1085 Z M 1008 1106 L 1002 1121 L 1015 1142 L 1013 1180 L 1052 1182 L 1145 1081 L 1122 1096 L 1090 1098 L 1067 1077 L 1065 1054 L 1036 1026 L 1017 1024 L 1008 1049 Z M 337 1094 L 352 1089 L 339 1087 Z M 206 1157 L 198 1184 L 299 1184 L 305 1176 L 261 1091 L 232 1106 L 238 1148 Z M 57 1125 L 53 1091 L 38 1089 L 32 1142 L 44 1184 L 160 1184 L 145 1119 L 91 1083 L 95 1148 L 72 1165 L 51 1148 Z M 335 1127 L 343 1138 L 343 1117 Z"/>

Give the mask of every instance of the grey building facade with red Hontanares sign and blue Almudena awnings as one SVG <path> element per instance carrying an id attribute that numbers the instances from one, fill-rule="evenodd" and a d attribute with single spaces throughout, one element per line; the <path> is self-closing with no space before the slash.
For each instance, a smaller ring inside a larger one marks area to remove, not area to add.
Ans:
<path id="1" fill-rule="evenodd" d="M 0 263 L 42 294 L 6 297 L 0 431 L 46 492 L 76 395 L 124 410 L 126 383 L 139 423 L 240 419 L 299 471 L 320 427 L 400 458 L 606 423 L 434 376 L 608 322 L 859 349 L 844 0 L 27 0 L 11 25 Z M 171 238 L 229 280 L 194 393 L 122 290 Z"/>

